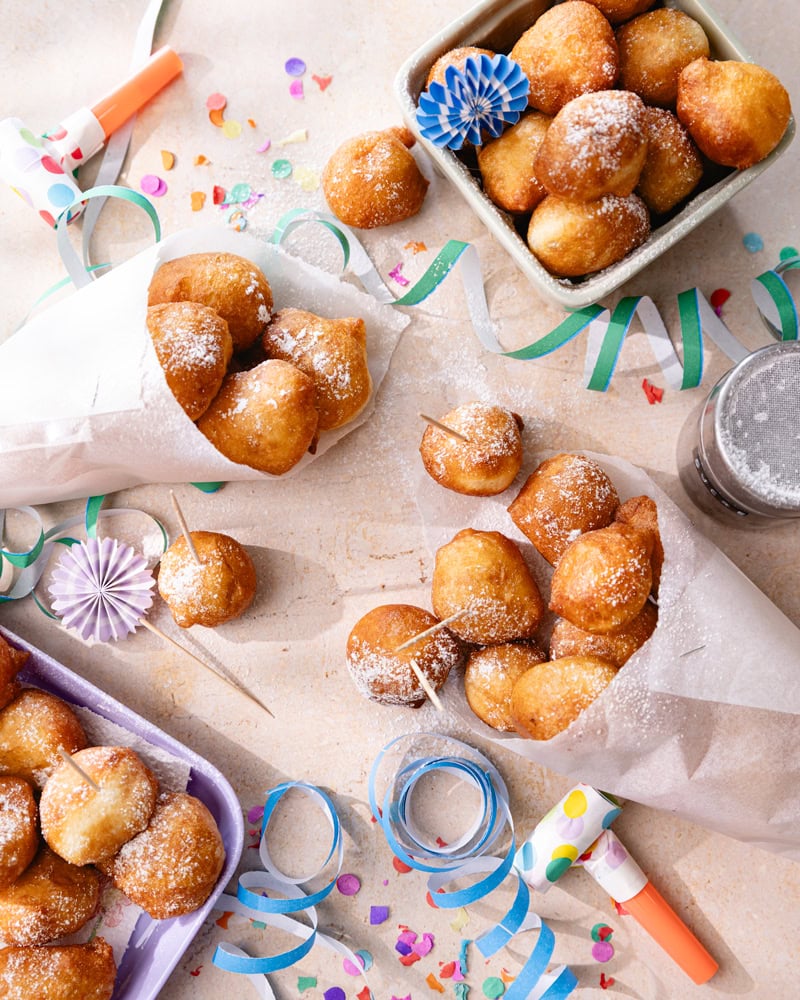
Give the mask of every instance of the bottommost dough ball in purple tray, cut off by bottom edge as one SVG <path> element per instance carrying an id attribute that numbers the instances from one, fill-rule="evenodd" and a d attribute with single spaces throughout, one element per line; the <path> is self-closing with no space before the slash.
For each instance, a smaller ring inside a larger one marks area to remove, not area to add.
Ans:
<path id="1" fill-rule="evenodd" d="M 111 1000 L 114 950 L 102 937 L 87 944 L 0 949 L 5 1000 Z"/>

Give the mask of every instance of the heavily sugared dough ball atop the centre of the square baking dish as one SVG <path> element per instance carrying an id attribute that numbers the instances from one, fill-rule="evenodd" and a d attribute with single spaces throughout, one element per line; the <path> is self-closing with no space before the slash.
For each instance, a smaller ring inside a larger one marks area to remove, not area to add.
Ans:
<path id="1" fill-rule="evenodd" d="M 647 156 L 645 106 L 629 90 L 582 94 L 547 130 L 534 170 L 550 194 L 594 201 L 636 187 Z"/>

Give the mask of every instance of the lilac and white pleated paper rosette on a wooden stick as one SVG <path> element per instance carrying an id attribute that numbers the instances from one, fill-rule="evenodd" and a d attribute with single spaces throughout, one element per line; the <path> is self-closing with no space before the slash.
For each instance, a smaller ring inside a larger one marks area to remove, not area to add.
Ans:
<path id="1" fill-rule="evenodd" d="M 155 580 L 135 549 L 89 538 L 66 549 L 53 570 L 52 608 L 82 639 L 122 639 L 153 603 Z"/>

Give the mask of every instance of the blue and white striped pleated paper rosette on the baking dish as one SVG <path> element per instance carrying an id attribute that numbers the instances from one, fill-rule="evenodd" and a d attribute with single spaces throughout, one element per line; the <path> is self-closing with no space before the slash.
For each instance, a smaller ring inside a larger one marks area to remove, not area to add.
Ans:
<path id="1" fill-rule="evenodd" d="M 497 138 L 528 106 L 530 83 L 508 56 L 468 56 L 463 70 L 448 66 L 444 76 L 444 84 L 434 80 L 420 94 L 417 107 L 422 135 L 436 146 L 479 146 L 483 133 Z"/>

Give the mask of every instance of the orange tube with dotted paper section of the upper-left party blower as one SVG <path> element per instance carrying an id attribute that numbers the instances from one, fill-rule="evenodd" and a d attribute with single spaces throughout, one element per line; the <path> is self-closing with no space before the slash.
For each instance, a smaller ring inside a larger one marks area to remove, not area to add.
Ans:
<path id="1" fill-rule="evenodd" d="M 93 107 L 81 108 L 47 132 L 44 138 L 49 151 L 65 171 L 79 167 L 182 70 L 180 56 L 165 45 Z"/>

